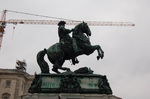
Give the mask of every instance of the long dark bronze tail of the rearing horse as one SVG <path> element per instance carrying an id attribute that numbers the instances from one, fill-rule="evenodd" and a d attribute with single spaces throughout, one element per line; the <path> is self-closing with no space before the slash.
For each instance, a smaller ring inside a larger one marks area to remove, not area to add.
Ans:
<path id="1" fill-rule="evenodd" d="M 47 53 L 47 50 L 44 49 L 37 54 L 37 63 L 41 68 L 42 73 L 49 73 L 49 66 L 47 62 L 44 60 L 44 56 Z"/>

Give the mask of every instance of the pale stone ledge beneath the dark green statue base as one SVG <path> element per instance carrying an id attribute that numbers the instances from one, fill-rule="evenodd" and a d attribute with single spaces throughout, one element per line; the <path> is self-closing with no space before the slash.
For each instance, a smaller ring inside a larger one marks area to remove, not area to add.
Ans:
<path id="1" fill-rule="evenodd" d="M 106 94 L 29 94 L 23 96 L 23 99 L 121 99 L 114 95 Z"/>

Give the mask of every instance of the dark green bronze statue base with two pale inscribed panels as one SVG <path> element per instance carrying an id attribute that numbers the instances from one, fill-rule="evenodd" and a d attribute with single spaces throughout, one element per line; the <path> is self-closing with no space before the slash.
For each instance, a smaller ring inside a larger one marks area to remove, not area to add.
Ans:
<path id="1" fill-rule="evenodd" d="M 66 72 L 35 75 L 29 93 L 112 94 L 112 90 L 106 76 Z"/>

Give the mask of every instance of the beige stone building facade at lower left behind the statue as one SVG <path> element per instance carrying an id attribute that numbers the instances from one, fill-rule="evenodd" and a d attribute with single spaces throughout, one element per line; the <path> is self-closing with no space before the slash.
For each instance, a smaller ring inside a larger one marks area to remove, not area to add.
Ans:
<path id="1" fill-rule="evenodd" d="M 0 69 L 0 99 L 22 99 L 34 76 L 17 69 Z"/>

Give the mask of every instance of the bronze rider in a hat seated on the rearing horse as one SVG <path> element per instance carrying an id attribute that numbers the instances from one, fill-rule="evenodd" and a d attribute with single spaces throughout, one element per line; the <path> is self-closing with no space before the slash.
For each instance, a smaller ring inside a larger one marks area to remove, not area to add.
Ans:
<path id="1" fill-rule="evenodd" d="M 61 44 L 68 44 L 68 45 L 72 45 L 73 46 L 73 40 L 70 37 L 69 33 L 71 33 L 74 29 L 66 29 L 65 28 L 65 21 L 60 21 L 58 23 L 58 36 L 59 36 L 59 43 Z M 79 63 L 79 61 L 77 60 L 77 58 L 73 58 L 72 59 L 72 63 L 73 65 L 75 65 L 76 63 Z"/>

